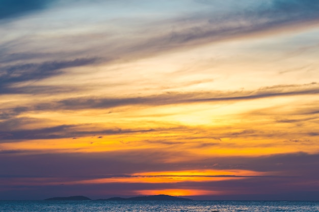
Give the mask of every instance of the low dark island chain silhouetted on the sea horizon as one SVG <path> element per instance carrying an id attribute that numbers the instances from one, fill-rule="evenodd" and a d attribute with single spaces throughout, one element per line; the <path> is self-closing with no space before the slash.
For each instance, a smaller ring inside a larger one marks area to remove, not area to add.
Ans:
<path id="1" fill-rule="evenodd" d="M 65 200 L 92 200 L 89 197 L 85 196 L 71 196 L 71 197 L 53 197 L 45 200 L 49 201 L 65 201 Z M 122 198 L 122 197 L 112 197 L 109 199 L 97 199 L 99 201 L 192 201 L 192 199 L 182 198 L 182 197 L 174 197 L 169 195 L 153 195 L 153 196 L 139 196 L 139 197 L 130 197 L 130 198 Z"/>

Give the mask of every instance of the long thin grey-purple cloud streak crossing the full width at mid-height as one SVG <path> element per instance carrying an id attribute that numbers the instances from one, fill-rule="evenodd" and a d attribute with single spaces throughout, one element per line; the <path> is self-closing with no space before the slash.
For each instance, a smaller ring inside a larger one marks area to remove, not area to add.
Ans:
<path id="1" fill-rule="evenodd" d="M 21 77 L 21 80 L 23 77 Z M 309 87 L 311 86 L 311 87 Z M 21 89 L 21 88 L 20 88 Z M 36 88 L 34 88 L 36 89 Z M 70 88 L 71 89 L 71 88 Z M 277 85 L 263 87 L 257 90 L 242 92 L 197 92 L 197 93 L 165 93 L 145 97 L 130 98 L 103 98 L 103 97 L 82 97 L 56 100 L 48 103 L 39 103 L 30 106 L 3 108 L 0 112 L 0 119 L 13 118 L 16 115 L 28 111 L 50 111 L 50 110 L 83 110 L 83 109 L 108 109 L 124 106 L 161 106 L 171 104 L 195 104 L 209 102 L 236 102 L 257 100 L 263 98 L 275 98 L 285 96 L 316 95 L 319 94 L 317 83 L 302 85 Z M 316 111 L 303 114 L 316 114 Z M 278 122 L 285 122 L 279 119 Z M 288 120 L 286 122 L 289 122 Z"/>

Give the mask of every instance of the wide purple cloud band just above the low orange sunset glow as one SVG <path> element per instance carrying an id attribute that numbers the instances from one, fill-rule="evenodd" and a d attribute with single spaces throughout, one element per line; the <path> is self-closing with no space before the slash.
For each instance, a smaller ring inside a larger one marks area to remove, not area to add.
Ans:
<path id="1" fill-rule="evenodd" d="M 186 160 L 170 162 L 164 160 L 174 158 L 176 152 L 166 149 L 131 149 L 116 150 L 105 153 L 35 153 L 35 152 L 15 152 L 6 150 L 0 158 L 0 164 L 4 167 L 3 173 L 7 175 L 32 175 L 45 177 L 81 177 L 104 178 L 104 177 L 130 177 L 141 172 L 174 172 L 183 170 L 251 170 L 269 173 L 274 177 L 307 177 L 315 179 L 315 174 L 319 170 L 313 169 L 319 164 L 318 154 L 292 153 L 275 154 L 269 156 L 211 156 L 204 159 L 190 159 L 188 153 L 184 153 Z M 28 154 L 25 154 L 28 153 Z M 11 155 L 11 156 L 10 156 Z M 23 168 L 21 161 L 29 164 L 29 169 Z M 64 161 L 64 162 L 63 162 Z M 208 164 L 211 166 L 207 166 Z M 10 164 L 10 166 L 5 166 Z M 219 164 L 219 166 L 216 166 Z M 39 169 L 47 165 L 44 169 Z M 11 167 L 16 167 L 11 169 Z M 82 169 L 81 167 L 87 167 Z M 105 169 L 101 169 L 105 167 Z M 108 168 L 106 168 L 108 167 Z M 66 172 L 63 170 L 67 170 Z M 276 174 L 275 174 L 276 173 Z M 156 174 L 155 174 L 156 175 Z M 152 177 L 151 175 L 149 175 Z M 221 177 L 221 175 L 211 175 L 211 177 Z M 235 177 L 235 176 L 229 176 Z"/>

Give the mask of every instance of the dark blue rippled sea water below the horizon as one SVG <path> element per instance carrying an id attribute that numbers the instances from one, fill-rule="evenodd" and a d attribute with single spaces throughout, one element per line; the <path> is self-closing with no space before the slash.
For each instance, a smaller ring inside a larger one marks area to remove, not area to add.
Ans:
<path id="1" fill-rule="evenodd" d="M 1 212 L 319 212 L 319 201 L 0 201 Z"/>

